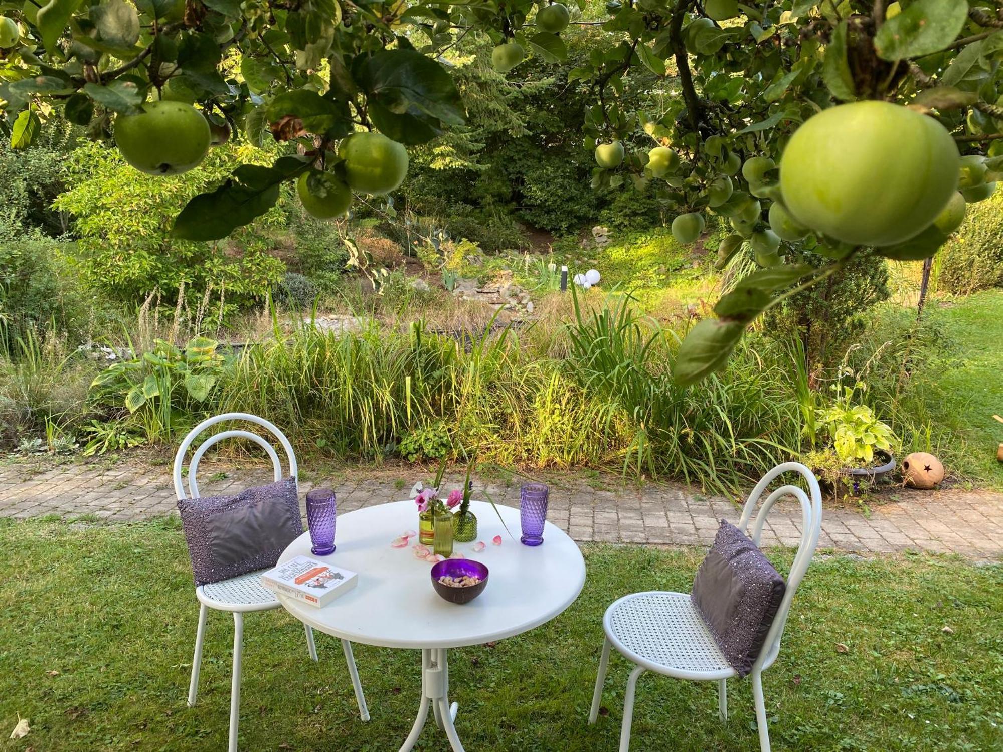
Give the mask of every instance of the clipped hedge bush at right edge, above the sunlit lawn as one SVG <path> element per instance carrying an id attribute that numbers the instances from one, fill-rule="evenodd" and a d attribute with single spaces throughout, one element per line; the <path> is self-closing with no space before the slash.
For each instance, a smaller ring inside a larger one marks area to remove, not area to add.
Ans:
<path id="1" fill-rule="evenodd" d="M 938 285 L 955 295 L 1003 287 L 1003 191 L 968 205 L 964 224 L 934 261 Z"/>

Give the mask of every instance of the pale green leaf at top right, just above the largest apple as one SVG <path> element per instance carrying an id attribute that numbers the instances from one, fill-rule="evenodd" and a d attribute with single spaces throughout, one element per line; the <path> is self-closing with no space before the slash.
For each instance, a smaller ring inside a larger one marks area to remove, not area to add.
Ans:
<path id="1" fill-rule="evenodd" d="M 966 0 L 916 0 L 878 29 L 875 49 L 883 60 L 938 52 L 958 38 L 967 18 Z"/>

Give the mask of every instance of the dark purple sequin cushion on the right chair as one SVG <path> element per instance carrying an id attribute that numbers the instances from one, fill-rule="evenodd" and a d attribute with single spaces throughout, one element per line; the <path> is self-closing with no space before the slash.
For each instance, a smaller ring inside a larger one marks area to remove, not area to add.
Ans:
<path id="1" fill-rule="evenodd" d="M 722 519 L 690 599 L 738 676 L 752 670 L 785 590 L 762 551 Z"/>

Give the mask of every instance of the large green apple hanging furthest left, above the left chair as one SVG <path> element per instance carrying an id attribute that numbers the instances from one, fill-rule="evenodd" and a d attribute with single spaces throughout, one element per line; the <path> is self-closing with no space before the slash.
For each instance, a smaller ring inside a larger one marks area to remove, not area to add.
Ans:
<path id="1" fill-rule="evenodd" d="M 146 102 L 138 114 L 115 118 L 118 151 L 148 174 L 178 174 L 198 166 L 212 137 L 202 112 L 185 102 Z"/>

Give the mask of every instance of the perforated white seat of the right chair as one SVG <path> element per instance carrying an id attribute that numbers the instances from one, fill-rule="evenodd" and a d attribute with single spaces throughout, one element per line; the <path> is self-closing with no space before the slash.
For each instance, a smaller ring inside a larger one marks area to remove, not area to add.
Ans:
<path id="1" fill-rule="evenodd" d="M 737 676 L 687 593 L 625 596 L 610 606 L 603 625 L 620 653 L 650 671 L 679 679 Z"/>

